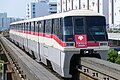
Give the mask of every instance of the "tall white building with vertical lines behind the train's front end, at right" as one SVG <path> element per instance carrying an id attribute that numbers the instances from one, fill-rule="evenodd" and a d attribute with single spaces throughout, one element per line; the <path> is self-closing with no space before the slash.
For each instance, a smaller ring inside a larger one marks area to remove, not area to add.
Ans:
<path id="1" fill-rule="evenodd" d="M 57 13 L 73 9 L 89 9 L 106 17 L 108 25 L 120 24 L 120 0 L 58 0 Z"/>

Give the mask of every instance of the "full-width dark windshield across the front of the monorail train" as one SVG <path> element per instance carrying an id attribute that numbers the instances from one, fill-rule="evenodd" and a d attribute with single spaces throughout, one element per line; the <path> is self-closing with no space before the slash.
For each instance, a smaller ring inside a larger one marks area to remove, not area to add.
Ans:
<path id="1" fill-rule="evenodd" d="M 106 41 L 106 22 L 102 16 L 69 16 L 64 18 L 64 35 L 86 34 L 88 41 Z"/>

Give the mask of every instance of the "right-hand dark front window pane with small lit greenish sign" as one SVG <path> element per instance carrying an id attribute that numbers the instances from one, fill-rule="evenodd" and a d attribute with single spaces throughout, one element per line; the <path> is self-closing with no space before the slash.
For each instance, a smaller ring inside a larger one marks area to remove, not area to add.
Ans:
<path id="1" fill-rule="evenodd" d="M 88 41 L 107 40 L 105 18 L 100 16 L 86 17 L 86 33 Z"/>

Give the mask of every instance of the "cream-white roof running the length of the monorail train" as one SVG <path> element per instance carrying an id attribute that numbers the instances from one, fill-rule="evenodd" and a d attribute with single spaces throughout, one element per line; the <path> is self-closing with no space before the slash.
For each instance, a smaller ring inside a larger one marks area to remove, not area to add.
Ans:
<path id="1" fill-rule="evenodd" d="M 100 13 L 94 12 L 92 10 L 79 9 L 79 10 L 71 10 L 71 11 L 67 11 L 67 12 L 63 12 L 63 13 L 56 13 L 56 14 L 37 17 L 37 18 L 33 18 L 33 19 L 27 19 L 27 20 L 22 20 L 22 21 L 18 21 L 18 22 L 13 22 L 10 25 L 27 23 L 27 22 L 32 22 L 32 21 L 46 20 L 46 19 L 51 19 L 51 18 L 60 18 L 60 17 L 66 17 L 66 16 L 103 16 L 103 15 L 101 15 Z"/>

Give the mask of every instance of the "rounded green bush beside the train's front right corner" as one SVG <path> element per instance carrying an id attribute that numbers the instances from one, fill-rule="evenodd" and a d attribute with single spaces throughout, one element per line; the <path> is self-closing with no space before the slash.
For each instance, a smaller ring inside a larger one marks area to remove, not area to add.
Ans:
<path id="1" fill-rule="evenodd" d="M 107 58 L 108 61 L 115 63 L 117 57 L 118 57 L 117 51 L 113 49 L 108 51 L 108 58 Z"/>

